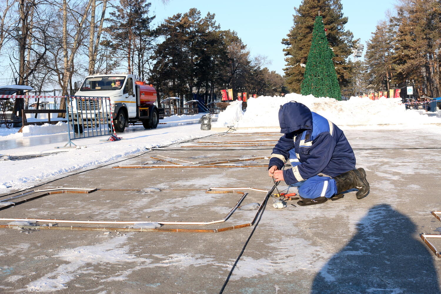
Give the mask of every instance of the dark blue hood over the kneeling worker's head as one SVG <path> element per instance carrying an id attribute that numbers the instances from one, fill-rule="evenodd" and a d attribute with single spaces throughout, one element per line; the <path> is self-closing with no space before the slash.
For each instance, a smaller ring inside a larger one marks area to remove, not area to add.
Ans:
<path id="1" fill-rule="evenodd" d="M 280 105 L 279 123 L 283 134 L 312 130 L 312 114 L 305 105 L 291 101 Z"/>

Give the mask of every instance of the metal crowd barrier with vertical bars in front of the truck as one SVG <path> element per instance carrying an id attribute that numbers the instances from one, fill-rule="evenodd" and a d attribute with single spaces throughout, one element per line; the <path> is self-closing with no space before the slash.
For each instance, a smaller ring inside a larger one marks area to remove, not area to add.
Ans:
<path id="1" fill-rule="evenodd" d="M 69 141 L 64 147 L 76 146 L 75 139 L 116 135 L 109 97 L 67 96 L 66 109 Z"/>

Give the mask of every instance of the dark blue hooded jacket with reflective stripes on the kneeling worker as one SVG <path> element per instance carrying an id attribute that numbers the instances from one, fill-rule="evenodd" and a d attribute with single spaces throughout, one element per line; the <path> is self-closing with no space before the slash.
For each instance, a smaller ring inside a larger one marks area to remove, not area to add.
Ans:
<path id="1" fill-rule="evenodd" d="M 355 169 L 354 151 L 343 131 L 305 105 L 281 105 L 279 123 L 284 135 L 273 149 L 269 167 L 282 169 L 289 158 L 292 168 L 283 171 L 288 185 L 318 174 L 333 178 Z"/>

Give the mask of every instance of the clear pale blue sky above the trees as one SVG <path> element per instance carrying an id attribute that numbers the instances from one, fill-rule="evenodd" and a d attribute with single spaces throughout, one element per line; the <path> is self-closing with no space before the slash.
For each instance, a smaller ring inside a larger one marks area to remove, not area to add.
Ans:
<path id="1" fill-rule="evenodd" d="M 301 0 L 169 0 L 162 4 L 161 0 L 151 0 L 152 12 L 156 15 L 155 23 L 162 22 L 176 13 L 184 13 L 194 7 L 201 11 L 215 13 L 215 19 L 223 30 L 235 30 L 242 41 L 247 44 L 251 55 L 265 55 L 272 60 L 270 70 L 283 74 L 285 66 L 280 44 L 282 38 L 293 25 L 294 7 L 299 7 Z M 385 11 L 393 10 L 395 0 L 341 0 L 343 14 L 349 18 L 345 26 L 360 38 L 362 44 L 370 39 L 377 22 L 385 19 Z M 364 52 L 363 52 L 364 53 Z"/>

